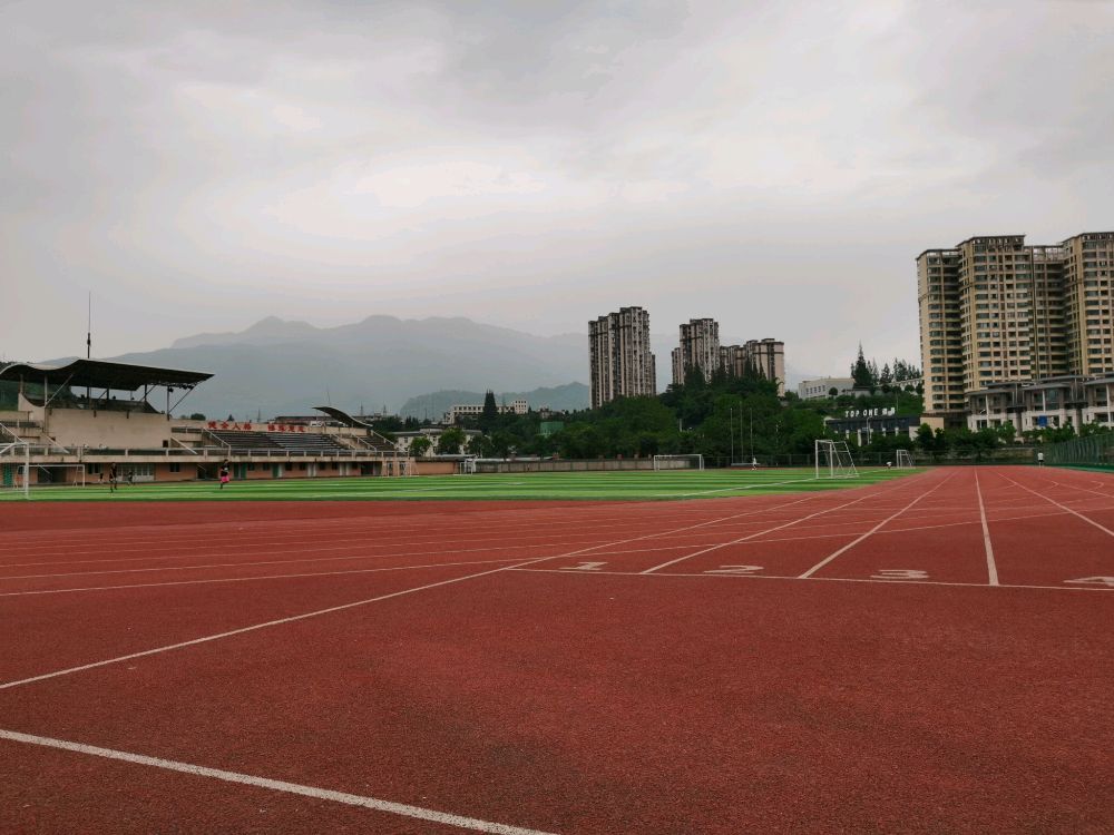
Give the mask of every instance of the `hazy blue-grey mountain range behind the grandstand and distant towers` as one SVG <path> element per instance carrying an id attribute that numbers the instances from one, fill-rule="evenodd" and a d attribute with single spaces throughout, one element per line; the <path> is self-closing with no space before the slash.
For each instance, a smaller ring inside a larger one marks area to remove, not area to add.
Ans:
<path id="1" fill-rule="evenodd" d="M 655 334 L 652 342 L 664 391 L 676 335 Z M 437 420 L 452 403 L 482 402 L 489 389 L 508 400 L 525 395 L 531 406 L 588 406 L 587 332 L 535 336 L 463 317 L 375 315 L 317 327 L 268 316 L 238 333 L 197 334 L 111 358 L 212 372 L 175 414 L 254 419 L 331 403 Z"/>

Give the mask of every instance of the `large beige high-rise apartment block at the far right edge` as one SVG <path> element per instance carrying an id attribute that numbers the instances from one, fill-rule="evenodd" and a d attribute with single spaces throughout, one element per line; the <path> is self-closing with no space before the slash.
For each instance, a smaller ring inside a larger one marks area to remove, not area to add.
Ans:
<path id="1" fill-rule="evenodd" d="M 1114 372 L 1114 233 L 1032 246 L 973 237 L 917 257 L 925 410 L 958 422 L 965 395 L 1006 381 Z"/>

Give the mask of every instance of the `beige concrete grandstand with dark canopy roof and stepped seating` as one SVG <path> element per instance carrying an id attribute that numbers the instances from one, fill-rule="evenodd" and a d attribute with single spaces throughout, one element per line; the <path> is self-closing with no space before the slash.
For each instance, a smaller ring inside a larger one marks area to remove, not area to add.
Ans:
<path id="1" fill-rule="evenodd" d="M 173 418 L 211 376 L 100 360 L 12 363 L 0 367 L 0 383 L 18 385 L 14 407 L 0 410 L 0 444 L 29 444 L 32 487 L 79 473 L 96 484 L 111 464 L 140 482 L 211 479 L 223 464 L 241 480 L 413 471 L 389 439 L 332 406 L 317 407 L 332 419 L 320 425 Z"/>

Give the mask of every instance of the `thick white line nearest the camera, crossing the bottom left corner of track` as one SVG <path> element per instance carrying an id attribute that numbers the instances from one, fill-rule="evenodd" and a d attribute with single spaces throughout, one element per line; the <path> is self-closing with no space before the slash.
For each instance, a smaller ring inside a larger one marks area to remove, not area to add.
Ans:
<path id="1" fill-rule="evenodd" d="M 6 730 L 3 728 L 0 728 L 0 739 L 7 739 L 12 743 L 23 743 L 25 745 L 38 745 L 45 748 L 57 748 L 60 750 L 72 752 L 75 754 L 86 754 L 92 757 L 104 757 L 105 759 L 116 759 L 123 763 L 131 763 L 133 765 L 163 768 L 168 772 L 189 774 L 195 777 L 209 777 L 213 779 L 224 780 L 225 783 L 238 783 L 244 786 L 265 788 L 271 792 L 284 792 L 285 794 L 312 797 L 316 800 L 331 800 L 333 803 L 343 803 L 348 806 L 361 806 L 367 809 L 374 809 L 375 812 L 385 812 L 391 815 L 401 815 L 403 817 L 412 817 L 419 821 L 431 821 L 433 823 L 444 824 L 447 826 L 457 826 L 461 829 L 471 829 L 473 832 L 494 833 L 495 835 L 550 835 L 549 833 L 543 833 L 539 829 L 526 829 L 521 826 L 496 824 L 489 821 L 480 821 L 475 817 L 465 817 L 462 815 L 453 815 L 448 812 L 437 812 L 434 809 L 422 808 L 421 806 L 411 806 L 405 803 L 381 800 L 378 797 L 364 797 L 362 795 L 353 795 L 346 792 L 334 792 L 329 788 L 303 786 L 299 783 L 275 780 L 268 777 L 255 777 L 251 774 L 241 774 L 240 772 L 226 772 L 223 768 L 208 768 L 207 766 L 179 763 L 174 759 L 163 759 L 162 757 L 148 757 L 144 754 L 133 754 L 131 752 L 116 750 L 115 748 L 101 748 L 96 745 L 86 745 L 84 743 L 70 743 L 65 739 L 52 739 L 51 737 L 20 734 L 19 731 Z"/>

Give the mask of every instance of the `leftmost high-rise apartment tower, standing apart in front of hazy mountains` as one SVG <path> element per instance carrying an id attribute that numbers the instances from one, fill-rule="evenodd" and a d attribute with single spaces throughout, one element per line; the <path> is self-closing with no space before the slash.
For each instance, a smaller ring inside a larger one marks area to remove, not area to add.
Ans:
<path id="1" fill-rule="evenodd" d="M 588 348 L 593 409 L 616 397 L 657 394 L 649 314 L 642 307 L 620 307 L 589 322 Z"/>

